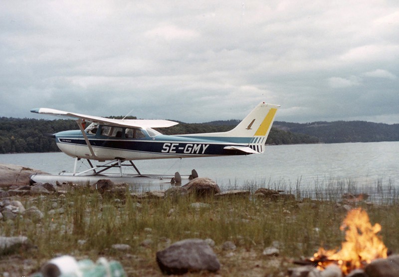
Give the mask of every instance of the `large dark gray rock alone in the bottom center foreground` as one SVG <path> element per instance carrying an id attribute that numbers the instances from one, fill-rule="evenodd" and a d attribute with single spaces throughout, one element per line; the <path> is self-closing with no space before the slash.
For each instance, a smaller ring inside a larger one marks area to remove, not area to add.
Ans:
<path id="1" fill-rule="evenodd" d="M 180 241 L 157 252 L 157 263 L 165 274 L 216 272 L 220 269 L 219 261 L 212 249 L 205 241 L 199 239 Z"/>

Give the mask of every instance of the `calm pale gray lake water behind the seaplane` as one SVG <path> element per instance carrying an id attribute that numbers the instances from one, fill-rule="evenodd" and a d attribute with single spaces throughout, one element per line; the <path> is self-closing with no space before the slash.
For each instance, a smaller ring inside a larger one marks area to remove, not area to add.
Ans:
<path id="1" fill-rule="evenodd" d="M 72 171 L 74 159 L 63 153 L 1 154 L 0 163 L 22 165 L 51 174 Z M 248 156 L 136 161 L 144 174 L 191 174 L 209 177 L 220 186 L 244 185 L 307 190 L 345 183 L 359 190 L 378 186 L 399 192 L 399 142 L 266 146 Z M 84 170 L 86 168 L 81 168 Z M 133 173 L 133 172 L 126 172 Z M 363 192 L 363 191 L 362 191 Z"/>

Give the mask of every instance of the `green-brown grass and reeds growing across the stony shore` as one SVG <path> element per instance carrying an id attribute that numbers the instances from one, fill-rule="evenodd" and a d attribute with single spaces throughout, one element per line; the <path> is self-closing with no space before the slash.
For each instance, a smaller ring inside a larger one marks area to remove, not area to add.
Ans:
<path id="1" fill-rule="evenodd" d="M 234 187 L 236 184 L 232 185 Z M 32 271 L 38 271 L 48 259 L 68 254 L 78 259 L 96 261 L 105 256 L 120 261 L 129 276 L 161 276 L 155 262 L 157 251 L 183 239 L 210 238 L 215 242 L 214 251 L 222 264 L 219 272 L 222 276 L 256 275 L 257 272 L 259 276 L 265 273 L 277 276 L 281 267 L 292 267 L 286 258 L 310 257 L 320 246 L 338 248 L 344 240 L 339 227 L 347 213 L 341 195 L 361 192 L 358 184 L 335 180 L 328 184 L 315 182 L 314 189 L 310 190 L 301 189 L 300 179 L 289 186 L 269 181 L 248 182 L 244 187 L 252 193 L 258 187 L 285 190 L 293 193 L 297 200 L 273 202 L 254 197 L 218 200 L 190 196 L 138 202 L 129 195 L 114 199 L 93 193 L 89 188 L 79 188 L 65 196 L 15 198 L 25 208 L 36 206 L 44 218 L 39 222 L 23 218 L 1 222 L 0 235 L 21 235 L 30 239 L 35 247 L 21 250 L 17 255 L 21 259 L 36 257 Z M 383 241 L 391 251 L 398 253 L 398 196 L 391 183 L 388 190 L 385 187 L 378 181 L 374 188 L 377 193 L 374 198 L 379 203 L 359 202 L 352 206 L 362 207 L 372 224 L 382 225 Z M 190 207 L 199 201 L 209 207 Z M 54 214 L 54 210 L 60 208 L 63 213 Z M 237 246 L 234 255 L 222 250 L 225 241 Z M 131 249 L 127 252 L 114 250 L 114 244 L 127 244 Z M 262 256 L 264 248 L 276 244 L 282 258 Z M 0 271 L 7 271 L 5 263 L 0 263 Z M 194 275 L 203 276 L 204 273 Z"/>

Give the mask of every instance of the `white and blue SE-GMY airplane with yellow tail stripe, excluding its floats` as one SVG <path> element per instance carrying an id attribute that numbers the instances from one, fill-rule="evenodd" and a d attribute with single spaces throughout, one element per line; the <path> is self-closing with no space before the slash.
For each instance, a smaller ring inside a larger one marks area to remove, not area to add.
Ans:
<path id="1" fill-rule="evenodd" d="M 75 158 L 72 176 L 102 175 L 117 167 L 122 177 L 124 165 L 132 166 L 137 176 L 143 177 L 146 175 L 133 161 L 263 153 L 279 107 L 261 102 L 230 131 L 181 135 L 164 135 L 155 130 L 179 124 L 170 120 L 112 119 L 51 108 L 30 111 L 76 121 L 78 130 L 51 135 L 62 152 Z M 77 162 L 82 159 L 90 166 L 77 172 Z M 93 160 L 101 164 L 94 166 Z M 193 170 L 193 174 L 197 173 Z"/>

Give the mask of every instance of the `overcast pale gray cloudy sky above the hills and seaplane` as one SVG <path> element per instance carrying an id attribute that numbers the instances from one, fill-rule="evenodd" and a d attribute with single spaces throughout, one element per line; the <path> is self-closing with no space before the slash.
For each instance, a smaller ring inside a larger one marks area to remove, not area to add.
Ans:
<path id="1" fill-rule="evenodd" d="M 397 0 L 3 0 L 0 116 L 399 123 Z M 49 118 L 48 119 L 54 119 Z"/>

